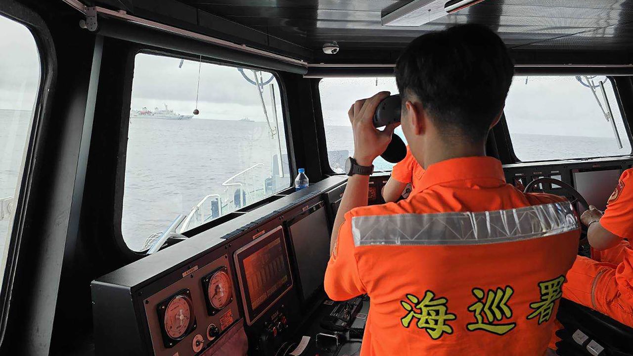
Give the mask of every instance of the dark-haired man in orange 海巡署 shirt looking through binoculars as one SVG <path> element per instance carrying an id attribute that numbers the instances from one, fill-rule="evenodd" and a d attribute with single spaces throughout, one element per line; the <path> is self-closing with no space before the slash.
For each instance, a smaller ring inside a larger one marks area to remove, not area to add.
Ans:
<path id="1" fill-rule="evenodd" d="M 366 174 L 394 130 L 372 125 L 388 93 L 350 108 L 354 158 L 325 291 L 370 296 L 361 356 L 548 352 L 579 222 L 564 198 L 506 184 L 501 162 L 486 156 L 512 76 L 505 45 L 485 27 L 409 44 L 396 65 L 401 124 L 426 172 L 398 203 L 366 206 Z"/>

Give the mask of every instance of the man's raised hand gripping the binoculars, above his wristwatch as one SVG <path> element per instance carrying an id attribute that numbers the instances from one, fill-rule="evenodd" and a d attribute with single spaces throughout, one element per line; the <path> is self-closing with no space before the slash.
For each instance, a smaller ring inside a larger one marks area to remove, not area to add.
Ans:
<path id="1" fill-rule="evenodd" d="M 388 91 L 381 91 L 369 99 L 357 100 L 349 108 L 349 122 L 354 134 L 354 159 L 359 165 L 370 166 L 380 156 L 389 143 L 394 129 L 399 123 L 391 124 L 380 131 L 373 127 L 373 113 L 380 101 L 389 96 Z"/>

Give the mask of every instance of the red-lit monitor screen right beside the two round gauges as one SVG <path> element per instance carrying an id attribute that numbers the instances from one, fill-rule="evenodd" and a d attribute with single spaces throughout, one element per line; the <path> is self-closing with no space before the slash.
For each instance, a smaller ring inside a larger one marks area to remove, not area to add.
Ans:
<path id="1" fill-rule="evenodd" d="M 282 227 L 235 251 L 235 265 L 246 322 L 251 325 L 292 287 Z"/>

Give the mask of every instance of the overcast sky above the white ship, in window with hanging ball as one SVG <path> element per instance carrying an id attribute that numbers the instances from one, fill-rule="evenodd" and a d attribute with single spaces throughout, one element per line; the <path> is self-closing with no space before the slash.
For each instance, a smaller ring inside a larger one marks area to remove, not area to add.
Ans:
<path id="1" fill-rule="evenodd" d="M 149 110 L 168 105 L 181 115 L 191 115 L 196 108 L 196 91 L 200 72 L 198 105 L 200 111 L 196 118 L 215 120 L 241 120 L 249 118 L 265 121 L 261 99 L 257 87 L 242 77 L 234 67 L 199 64 L 185 60 L 180 67 L 180 59 L 152 54 L 137 54 L 134 63 L 134 81 L 132 82 L 132 109 Z M 254 80 L 252 70 L 244 70 L 249 79 Z M 259 73 L 259 72 L 258 72 Z M 261 72 L 264 82 L 272 76 Z M 265 86 L 264 102 L 269 118 L 272 118 L 271 90 L 275 91 L 277 117 L 281 120 L 279 84 L 276 79 Z"/>

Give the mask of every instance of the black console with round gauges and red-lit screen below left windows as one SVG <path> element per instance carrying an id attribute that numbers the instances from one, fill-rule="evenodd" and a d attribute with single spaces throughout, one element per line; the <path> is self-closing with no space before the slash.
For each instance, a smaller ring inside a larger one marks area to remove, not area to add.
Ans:
<path id="1" fill-rule="evenodd" d="M 291 229 L 310 225 L 322 194 L 345 181 L 316 182 L 92 281 L 96 355 L 275 355 L 306 316 L 301 283 L 321 288 L 298 273 Z M 329 246 L 327 227 L 304 231 Z"/>

